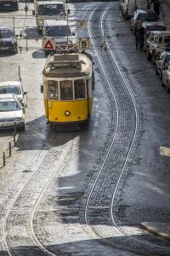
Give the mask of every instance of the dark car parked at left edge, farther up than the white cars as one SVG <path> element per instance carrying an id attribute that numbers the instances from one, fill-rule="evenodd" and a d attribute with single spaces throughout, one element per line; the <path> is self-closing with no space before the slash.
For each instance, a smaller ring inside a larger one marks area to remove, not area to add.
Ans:
<path id="1" fill-rule="evenodd" d="M 12 27 L 0 26 L 0 51 L 3 50 L 18 52 L 17 41 Z"/>

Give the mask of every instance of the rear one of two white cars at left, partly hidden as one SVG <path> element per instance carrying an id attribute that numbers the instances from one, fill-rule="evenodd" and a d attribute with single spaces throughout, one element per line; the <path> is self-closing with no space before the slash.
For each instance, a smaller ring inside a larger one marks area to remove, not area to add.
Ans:
<path id="1" fill-rule="evenodd" d="M 6 81 L 0 83 L 1 94 L 15 94 L 22 107 L 27 107 L 27 92 L 24 90 L 20 81 Z"/>

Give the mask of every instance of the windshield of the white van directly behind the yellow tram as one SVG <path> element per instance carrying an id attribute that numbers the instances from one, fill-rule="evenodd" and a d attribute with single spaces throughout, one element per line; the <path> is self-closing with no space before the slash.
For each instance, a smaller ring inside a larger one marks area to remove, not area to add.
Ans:
<path id="1" fill-rule="evenodd" d="M 47 35 L 48 37 L 70 36 L 71 30 L 69 26 L 48 26 Z"/>

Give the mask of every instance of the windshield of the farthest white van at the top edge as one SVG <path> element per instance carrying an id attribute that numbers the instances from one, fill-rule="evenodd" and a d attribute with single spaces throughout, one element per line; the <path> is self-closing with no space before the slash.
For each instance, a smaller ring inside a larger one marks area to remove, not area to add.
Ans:
<path id="1" fill-rule="evenodd" d="M 40 4 L 39 15 L 59 15 L 63 11 L 63 4 Z"/>

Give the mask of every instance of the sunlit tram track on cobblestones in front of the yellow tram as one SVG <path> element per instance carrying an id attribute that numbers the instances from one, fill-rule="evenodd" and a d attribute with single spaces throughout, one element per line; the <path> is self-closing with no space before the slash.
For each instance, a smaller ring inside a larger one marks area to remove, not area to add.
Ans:
<path id="1" fill-rule="evenodd" d="M 3 241 L 9 256 L 17 255 L 17 249 L 14 249 L 15 244 L 17 244 L 16 241 L 20 241 L 20 247 L 21 245 L 23 247 L 30 246 L 31 252 L 35 250 L 38 255 L 59 255 L 48 251 L 37 239 L 33 222 L 38 204 L 42 200 L 49 183 L 65 162 L 66 156 L 70 154 L 75 137 L 77 137 L 77 133 L 74 136 L 70 135 L 66 145 L 48 148 L 48 152 L 40 160 L 39 165 L 33 170 L 30 177 L 23 183 L 10 202 L 3 220 Z M 20 234 L 17 233 L 19 228 Z M 22 249 L 19 249 L 19 251 L 22 252 Z"/>

